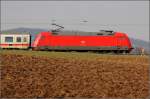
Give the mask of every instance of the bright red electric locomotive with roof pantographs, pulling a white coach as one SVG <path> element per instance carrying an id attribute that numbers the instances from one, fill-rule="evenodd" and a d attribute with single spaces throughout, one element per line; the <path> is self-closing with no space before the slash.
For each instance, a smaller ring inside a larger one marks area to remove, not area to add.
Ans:
<path id="1" fill-rule="evenodd" d="M 62 27 L 61 27 L 62 28 Z M 39 33 L 32 43 L 34 50 L 114 51 L 129 53 L 131 42 L 125 33 L 105 31 L 96 35 L 64 35 L 60 31 Z"/>

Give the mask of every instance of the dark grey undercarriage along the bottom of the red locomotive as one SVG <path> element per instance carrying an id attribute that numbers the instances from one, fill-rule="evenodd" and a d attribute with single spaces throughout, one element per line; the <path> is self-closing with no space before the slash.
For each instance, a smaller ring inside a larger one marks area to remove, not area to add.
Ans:
<path id="1" fill-rule="evenodd" d="M 36 51 L 77 51 L 77 52 L 99 52 L 99 53 L 115 53 L 115 54 L 127 54 L 130 50 L 127 47 L 50 47 L 42 46 L 32 48 Z"/>

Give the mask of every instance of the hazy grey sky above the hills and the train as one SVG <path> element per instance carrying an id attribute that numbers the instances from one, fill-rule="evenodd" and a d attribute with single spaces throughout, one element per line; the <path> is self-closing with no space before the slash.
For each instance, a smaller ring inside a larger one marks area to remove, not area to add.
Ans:
<path id="1" fill-rule="evenodd" d="M 149 1 L 1 1 L 1 29 L 111 29 L 149 40 Z M 84 20 L 88 22 L 83 22 Z"/>

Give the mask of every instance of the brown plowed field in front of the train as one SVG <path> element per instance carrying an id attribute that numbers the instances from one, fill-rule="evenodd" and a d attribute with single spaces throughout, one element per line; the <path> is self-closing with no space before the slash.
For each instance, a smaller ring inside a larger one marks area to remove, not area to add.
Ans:
<path id="1" fill-rule="evenodd" d="M 80 54 L 74 57 L 1 54 L 1 96 L 148 96 L 148 57 L 96 55 L 90 59 L 90 55 L 82 58 Z"/>

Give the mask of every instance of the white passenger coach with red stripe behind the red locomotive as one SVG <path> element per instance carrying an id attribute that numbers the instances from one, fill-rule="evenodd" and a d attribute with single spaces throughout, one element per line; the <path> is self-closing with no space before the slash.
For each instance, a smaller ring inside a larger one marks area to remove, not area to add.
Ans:
<path id="1" fill-rule="evenodd" d="M 0 33 L 0 48 L 28 49 L 30 39 L 29 33 Z"/>

